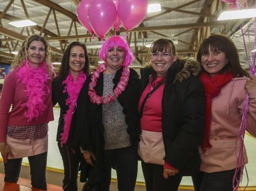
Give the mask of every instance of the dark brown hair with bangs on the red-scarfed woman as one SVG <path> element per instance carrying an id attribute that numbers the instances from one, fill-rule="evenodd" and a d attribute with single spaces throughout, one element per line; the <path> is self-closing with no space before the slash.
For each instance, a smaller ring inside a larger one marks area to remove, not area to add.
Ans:
<path id="1" fill-rule="evenodd" d="M 197 60 L 201 63 L 201 56 L 203 53 L 209 51 L 209 46 L 212 50 L 219 50 L 223 52 L 228 60 L 227 65 L 221 69 L 220 73 L 228 70 L 231 71 L 236 77 L 249 77 L 249 74 L 242 69 L 240 59 L 238 56 L 238 49 L 231 39 L 225 35 L 210 35 L 204 39 L 197 52 Z"/>

